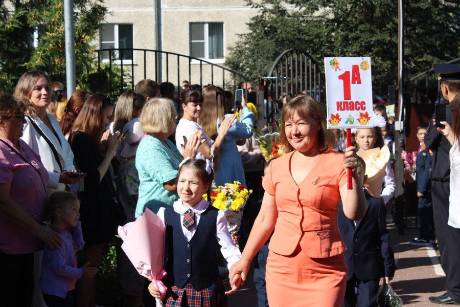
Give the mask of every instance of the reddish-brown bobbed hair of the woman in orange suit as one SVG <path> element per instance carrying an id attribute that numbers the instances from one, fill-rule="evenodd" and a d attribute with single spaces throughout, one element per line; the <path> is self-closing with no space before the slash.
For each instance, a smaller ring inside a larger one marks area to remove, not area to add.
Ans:
<path id="1" fill-rule="evenodd" d="M 325 109 L 313 97 L 301 95 L 289 100 L 283 106 L 283 111 L 281 112 L 280 141 L 286 148 L 289 148 L 288 151 L 291 151 L 293 148 L 289 144 L 284 126 L 286 120 L 292 119 L 295 113 L 300 118 L 310 116 L 321 126 L 321 129 L 318 130 L 319 152 L 329 152 L 334 148 L 335 137 L 331 130 L 328 130 Z"/>

